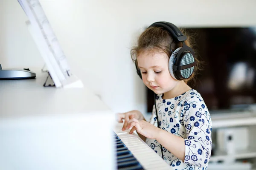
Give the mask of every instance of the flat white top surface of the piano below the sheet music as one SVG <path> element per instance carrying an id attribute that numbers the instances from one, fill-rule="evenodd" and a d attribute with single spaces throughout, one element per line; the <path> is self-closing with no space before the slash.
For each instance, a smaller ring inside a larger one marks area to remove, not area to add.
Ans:
<path id="1" fill-rule="evenodd" d="M 0 81 L 0 119 L 112 113 L 90 89 L 44 87 L 47 74 L 36 74 L 36 79 Z"/>

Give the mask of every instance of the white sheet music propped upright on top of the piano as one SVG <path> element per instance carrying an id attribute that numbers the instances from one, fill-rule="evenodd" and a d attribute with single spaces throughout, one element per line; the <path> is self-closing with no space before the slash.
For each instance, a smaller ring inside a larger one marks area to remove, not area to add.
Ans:
<path id="1" fill-rule="evenodd" d="M 39 0 L 18 0 L 29 21 L 29 32 L 47 65 L 57 88 L 82 88 L 83 83 L 70 71 L 67 58 L 55 36 Z"/>

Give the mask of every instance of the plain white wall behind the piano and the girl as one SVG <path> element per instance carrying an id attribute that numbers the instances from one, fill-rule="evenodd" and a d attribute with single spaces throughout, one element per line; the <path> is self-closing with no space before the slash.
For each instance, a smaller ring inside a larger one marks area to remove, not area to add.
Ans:
<path id="1" fill-rule="evenodd" d="M 146 26 L 256 26 L 255 0 L 40 0 L 71 68 L 113 111 L 145 112 L 145 88 L 130 48 Z M 0 0 L 3 68 L 41 68 L 17 0 Z"/>

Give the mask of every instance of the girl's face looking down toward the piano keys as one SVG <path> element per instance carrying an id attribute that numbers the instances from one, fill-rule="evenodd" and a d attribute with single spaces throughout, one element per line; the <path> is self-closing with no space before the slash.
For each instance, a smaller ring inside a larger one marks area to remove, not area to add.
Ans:
<path id="1" fill-rule="evenodd" d="M 137 57 L 143 83 L 155 94 L 171 91 L 179 82 L 170 75 L 168 60 L 166 53 L 152 50 L 143 51 Z"/>

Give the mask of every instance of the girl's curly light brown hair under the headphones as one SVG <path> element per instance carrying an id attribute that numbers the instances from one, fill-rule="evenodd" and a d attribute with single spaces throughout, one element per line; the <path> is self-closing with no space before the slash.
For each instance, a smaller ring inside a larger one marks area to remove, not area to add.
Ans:
<path id="1" fill-rule="evenodd" d="M 184 29 L 180 29 L 183 34 L 187 36 L 187 40 L 185 41 L 185 44 L 189 46 L 190 48 L 193 48 L 193 41 L 194 39 L 186 34 Z M 175 49 L 179 48 L 182 46 L 182 43 L 175 43 L 173 40 L 173 37 L 170 36 L 168 31 L 161 27 L 150 27 L 147 28 L 138 38 L 137 40 L 137 45 L 134 46 L 131 49 L 131 59 L 136 63 L 137 65 L 137 57 L 140 55 L 141 52 L 143 51 L 158 51 L 158 52 L 164 52 L 168 56 L 171 56 L 172 51 L 175 51 Z M 170 49 L 172 48 L 172 51 Z M 197 59 L 197 53 L 195 52 L 195 61 L 197 62 L 197 65 L 194 68 L 194 73 L 189 79 L 185 79 L 185 82 L 189 82 L 189 80 L 194 80 L 195 81 L 195 74 L 198 71 L 199 68 L 199 60 Z"/>

